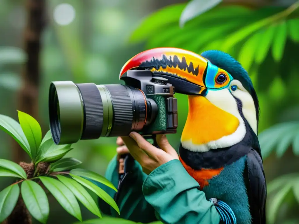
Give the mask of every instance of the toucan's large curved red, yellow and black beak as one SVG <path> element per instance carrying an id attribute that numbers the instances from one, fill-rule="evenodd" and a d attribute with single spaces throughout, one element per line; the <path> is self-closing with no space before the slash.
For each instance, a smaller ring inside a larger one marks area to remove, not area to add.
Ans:
<path id="1" fill-rule="evenodd" d="M 206 89 L 208 60 L 188 50 L 159 47 L 143 51 L 123 65 L 119 78 L 128 70 L 150 70 L 153 76 L 166 77 L 176 92 L 202 94 Z"/>

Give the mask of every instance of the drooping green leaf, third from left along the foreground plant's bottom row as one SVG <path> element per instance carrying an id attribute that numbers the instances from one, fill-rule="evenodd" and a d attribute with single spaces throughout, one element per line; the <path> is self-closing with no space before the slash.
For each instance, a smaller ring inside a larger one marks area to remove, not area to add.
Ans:
<path id="1" fill-rule="evenodd" d="M 65 209 L 65 211 L 82 221 L 80 206 L 70 189 L 57 179 L 53 179 L 51 177 L 39 177 L 39 179 L 56 198 L 59 204 Z"/>

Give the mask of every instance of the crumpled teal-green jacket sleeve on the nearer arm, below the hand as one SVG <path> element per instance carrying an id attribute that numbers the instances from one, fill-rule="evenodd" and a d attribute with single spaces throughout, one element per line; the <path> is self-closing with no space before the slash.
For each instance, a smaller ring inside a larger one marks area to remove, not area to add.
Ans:
<path id="1" fill-rule="evenodd" d="M 219 224 L 213 204 L 199 190 L 199 184 L 187 173 L 178 159 L 156 168 L 143 184 L 145 200 L 154 207 L 163 223 Z"/>

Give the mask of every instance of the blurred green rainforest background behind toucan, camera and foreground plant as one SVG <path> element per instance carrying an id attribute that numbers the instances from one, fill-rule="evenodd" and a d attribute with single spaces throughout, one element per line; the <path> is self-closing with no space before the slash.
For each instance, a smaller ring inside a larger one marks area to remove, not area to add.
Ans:
<path id="1" fill-rule="evenodd" d="M 181 47 L 196 53 L 224 50 L 249 72 L 260 100 L 267 222 L 299 223 L 297 1 L 224 0 L 201 15 L 205 0 L 49 0 L 41 1 L 45 2 L 42 15 L 35 2 L 0 2 L 1 114 L 17 119 L 17 109 L 29 113 L 39 121 L 44 135 L 51 81 L 121 83 L 123 64 L 153 47 Z M 32 31 L 36 27 L 42 27 L 40 36 Z M 39 51 L 32 44 L 38 41 Z M 188 104 L 186 96 L 176 97 L 179 128 L 168 139 L 178 148 Z M 115 155 L 115 140 L 81 141 L 67 156 L 104 174 Z M 0 142 L 0 158 L 30 162 L 2 131 Z M 0 190 L 11 181 L 1 178 Z M 55 200 L 50 203 L 49 223 L 75 221 Z M 86 209 L 82 212 L 84 220 L 94 218 Z"/>

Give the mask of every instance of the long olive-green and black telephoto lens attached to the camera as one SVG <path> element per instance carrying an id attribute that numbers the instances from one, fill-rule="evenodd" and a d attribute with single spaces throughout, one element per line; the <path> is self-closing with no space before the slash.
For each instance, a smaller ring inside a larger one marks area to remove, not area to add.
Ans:
<path id="1" fill-rule="evenodd" d="M 104 136 L 127 136 L 149 125 L 157 113 L 154 100 L 127 85 L 71 81 L 50 85 L 50 130 L 57 145 Z"/>

